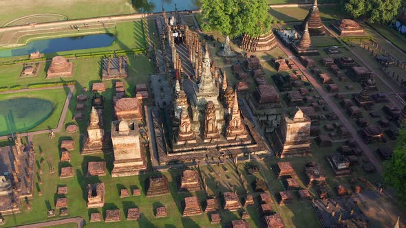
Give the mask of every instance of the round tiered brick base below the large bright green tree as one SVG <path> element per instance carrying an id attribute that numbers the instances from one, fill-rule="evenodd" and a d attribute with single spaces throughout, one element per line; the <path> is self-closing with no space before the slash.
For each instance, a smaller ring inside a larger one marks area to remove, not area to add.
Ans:
<path id="1" fill-rule="evenodd" d="M 246 52 L 266 52 L 277 46 L 277 39 L 272 31 L 261 36 L 249 36 L 244 34 L 239 47 Z"/>

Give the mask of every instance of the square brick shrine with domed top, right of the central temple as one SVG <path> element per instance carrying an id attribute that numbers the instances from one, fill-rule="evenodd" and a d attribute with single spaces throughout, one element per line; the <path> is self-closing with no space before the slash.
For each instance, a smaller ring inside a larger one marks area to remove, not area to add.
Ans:
<path id="1" fill-rule="evenodd" d="M 273 148 L 278 157 L 310 155 L 310 118 L 297 108 L 291 119 L 286 114 L 279 128 L 273 133 Z"/>

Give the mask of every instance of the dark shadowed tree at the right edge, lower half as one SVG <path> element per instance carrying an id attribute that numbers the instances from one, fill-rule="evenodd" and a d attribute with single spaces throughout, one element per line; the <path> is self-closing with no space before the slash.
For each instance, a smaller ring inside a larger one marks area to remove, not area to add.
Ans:
<path id="1" fill-rule="evenodd" d="M 392 159 L 383 163 L 385 183 L 396 189 L 400 201 L 406 204 L 406 129 L 400 131 Z"/>

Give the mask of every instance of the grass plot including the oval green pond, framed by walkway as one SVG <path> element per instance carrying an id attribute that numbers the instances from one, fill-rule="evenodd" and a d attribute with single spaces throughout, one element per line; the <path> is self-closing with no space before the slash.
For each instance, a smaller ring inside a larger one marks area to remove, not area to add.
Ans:
<path id="1" fill-rule="evenodd" d="M 0 135 L 8 135 L 16 131 L 22 133 L 25 130 L 56 128 L 66 96 L 67 89 L 0 94 L 0 102 L 4 104 L 7 104 L 6 100 L 12 98 L 37 98 L 43 100 L 30 100 L 30 102 L 22 100 L 16 106 L 0 105 L 2 115 L 0 117 Z M 48 102 L 51 103 L 47 104 Z"/>

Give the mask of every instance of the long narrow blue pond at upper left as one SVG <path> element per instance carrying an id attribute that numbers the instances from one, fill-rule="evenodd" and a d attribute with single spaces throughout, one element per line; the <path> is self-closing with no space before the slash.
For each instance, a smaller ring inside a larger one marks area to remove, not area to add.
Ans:
<path id="1" fill-rule="evenodd" d="M 32 41 L 22 47 L 0 49 L 0 57 L 24 56 L 36 51 L 47 54 L 72 51 L 76 49 L 108 47 L 111 45 L 111 43 L 113 43 L 113 41 L 113 34 L 94 34 L 87 36 L 50 38 Z"/>

